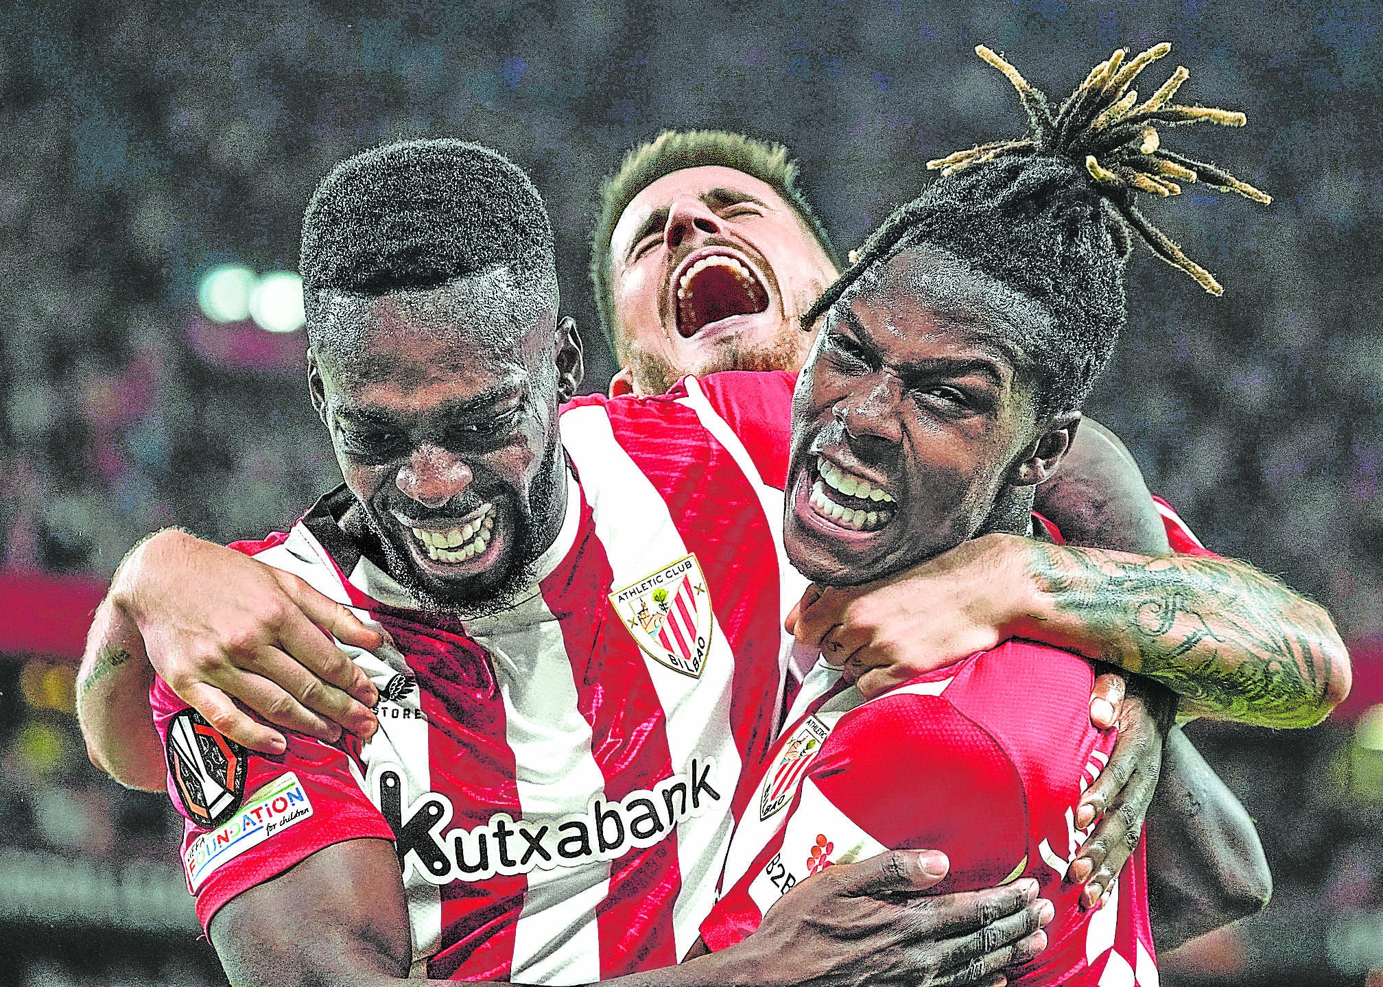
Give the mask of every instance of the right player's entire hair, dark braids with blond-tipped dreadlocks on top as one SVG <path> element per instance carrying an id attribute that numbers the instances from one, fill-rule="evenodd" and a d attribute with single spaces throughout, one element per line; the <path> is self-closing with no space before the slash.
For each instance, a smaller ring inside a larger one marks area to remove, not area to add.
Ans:
<path id="1" fill-rule="evenodd" d="M 1133 232 L 1207 292 L 1224 290 L 1138 212 L 1135 194 L 1177 195 L 1181 188 L 1173 178 L 1178 178 L 1271 200 L 1223 169 L 1160 147 L 1158 127 L 1245 123 L 1242 113 L 1169 105 L 1187 79 L 1185 68 L 1134 106 L 1137 95 L 1129 86 L 1170 50 L 1158 44 L 1126 66 L 1127 51 L 1115 51 L 1052 112 L 1047 97 L 1012 65 L 985 46 L 975 48 L 1014 83 L 1028 111 L 1028 134 L 928 162 L 942 169 L 942 178 L 884 221 L 804 325 L 812 325 L 873 265 L 909 246 L 934 245 L 1051 312 L 1050 325 L 1033 328 L 1029 341 L 1039 404 L 1048 413 L 1079 408 L 1124 322 L 1123 263 Z"/>

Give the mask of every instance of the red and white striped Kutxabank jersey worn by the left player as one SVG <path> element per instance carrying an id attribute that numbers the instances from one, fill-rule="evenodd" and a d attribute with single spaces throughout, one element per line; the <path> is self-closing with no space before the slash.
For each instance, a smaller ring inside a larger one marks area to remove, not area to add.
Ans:
<path id="1" fill-rule="evenodd" d="M 379 688 L 380 731 L 290 735 L 264 758 L 155 684 L 203 925 L 311 853 L 376 836 L 396 840 L 419 976 L 573 984 L 675 964 L 790 677 L 783 618 L 806 585 L 781 549 L 792 382 L 575 401 L 561 532 L 531 594 L 492 617 L 416 608 L 343 535 L 344 489 L 245 546 L 386 633 L 378 652 L 347 648 Z"/>

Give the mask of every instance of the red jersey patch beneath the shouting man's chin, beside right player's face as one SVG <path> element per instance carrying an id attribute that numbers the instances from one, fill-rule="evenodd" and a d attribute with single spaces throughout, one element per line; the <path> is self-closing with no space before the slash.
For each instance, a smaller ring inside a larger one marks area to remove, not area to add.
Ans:
<path id="1" fill-rule="evenodd" d="M 787 484 L 787 429 L 792 416 L 795 373 L 729 370 L 700 380 L 716 413 L 739 435 L 769 487 Z M 679 383 L 672 393 L 686 393 Z"/>

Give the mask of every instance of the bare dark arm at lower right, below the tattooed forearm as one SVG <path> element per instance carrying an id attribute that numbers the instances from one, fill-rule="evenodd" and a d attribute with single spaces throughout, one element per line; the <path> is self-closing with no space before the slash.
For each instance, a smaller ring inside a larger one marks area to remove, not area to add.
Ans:
<path id="1" fill-rule="evenodd" d="M 1160 951 L 1253 915 L 1272 896 L 1253 820 L 1180 728 L 1148 813 L 1148 896 Z"/>

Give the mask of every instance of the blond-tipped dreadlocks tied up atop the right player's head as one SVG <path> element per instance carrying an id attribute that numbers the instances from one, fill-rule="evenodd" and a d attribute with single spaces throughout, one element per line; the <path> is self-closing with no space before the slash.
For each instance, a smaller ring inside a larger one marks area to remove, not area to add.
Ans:
<path id="1" fill-rule="evenodd" d="M 1003 155 L 1046 153 L 1080 160 L 1098 185 L 1117 194 L 1109 196 L 1109 203 L 1130 227 L 1138 231 L 1153 253 L 1169 264 L 1180 267 L 1212 294 L 1223 294 L 1224 289 L 1209 271 L 1187 257 L 1180 246 L 1138 212 L 1133 202 L 1134 192 L 1180 195 L 1181 187 L 1173 181 L 1180 180 L 1203 181 L 1225 192 L 1238 192 L 1254 202 L 1268 203 L 1272 199 L 1221 167 L 1173 153 L 1162 147 L 1159 127 L 1202 122 L 1242 127 L 1246 122 L 1243 113 L 1227 109 L 1171 104 L 1171 97 L 1191 75 L 1184 65 L 1178 65 L 1152 97 L 1135 106 L 1138 94 L 1129 87 L 1140 72 L 1169 51 L 1171 46 L 1163 41 L 1124 65 L 1123 59 L 1129 51 L 1116 50 L 1091 69 L 1086 80 L 1061 104 L 1061 109 L 1052 113 L 1046 95 L 1033 88 L 1003 57 L 981 44 L 975 48 L 975 54 L 1003 72 L 1018 90 L 1018 98 L 1028 111 L 1030 133 L 1021 140 L 957 151 L 947 158 L 927 162 L 927 167 L 940 169 L 943 176 L 949 176 Z"/>

